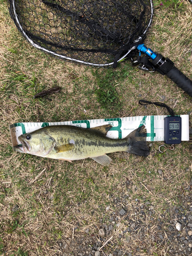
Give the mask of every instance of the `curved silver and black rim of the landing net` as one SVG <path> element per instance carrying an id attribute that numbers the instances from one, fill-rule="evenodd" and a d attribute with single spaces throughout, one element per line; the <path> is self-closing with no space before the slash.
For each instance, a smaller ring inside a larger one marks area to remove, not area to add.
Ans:
<path id="1" fill-rule="evenodd" d="M 48 50 L 38 44 L 36 44 L 25 32 L 25 30 L 23 29 L 22 25 L 20 24 L 19 22 L 19 17 L 16 13 L 16 4 L 15 4 L 15 0 L 9 0 L 9 2 L 11 3 L 12 5 L 12 10 L 13 10 L 13 13 L 12 13 L 12 18 L 14 18 L 14 22 L 17 26 L 17 28 L 20 30 L 20 32 L 22 32 L 23 36 L 29 41 L 29 43 L 36 49 L 39 49 L 41 51 L 44 51 L 46 53 L 49 53 L 55 57 L 58 57 L 58 58 L 61 58 L 61 59 L 65 59 L 65 60 L 70 60 L 70 61 L 75 61 L 77 63 L 81 63 L 81 64 L 85 64 L 85 65 L 90 65 L 90 66 L 94 66 L 94 67 L 108 67 L 108 66 L 114 66 L 114 61 L 113 62 L 110 62 L 110 63 L 94 63 L 94 62 L 88 62 L 88 61 L 83 61 L 83 60 L 80 60 L 80 59 L 75 59 L 75 58 L 72 58 L 72 57 L 69 57 L 69 56 L 65 56 L 65 55 L 62 55 L 62 54 L 58 54 L 54 51 L 51 51 L 51 50 Z M 137 42 L 139 44 L 140 41 L 142 41 L 143 37 L 145 37 L 146 35 L 146 32 L 148 31 L 148 29 L 151 27 L 152 25 L 152 19 L 153 19 L 153 14 L 154 14 L 154 9 L 153 9 L 153 3 L 152 3 L 152 0 L 149 0 L 150 2 L 150 8 L 151 8 L 151 16 L 150 16 L 150 20 L 148 22 L 148 25 L 146 27 L 146 29 L 144 30 L 144 32 L 138 36 L 138 39 L 134 41 L 134 46 L 132 46 L 129 50 L 127 50 L 127 52 L 121 56 L 116 62 L 119 62 L 121 60 L 123 60 L 124 58 L 126 58 L 127 56 L 129 56 L 129 54 L 135 50 L 137 48 Z M 14 14 L 14 17 L 13 17 L 13 14 Z"/>

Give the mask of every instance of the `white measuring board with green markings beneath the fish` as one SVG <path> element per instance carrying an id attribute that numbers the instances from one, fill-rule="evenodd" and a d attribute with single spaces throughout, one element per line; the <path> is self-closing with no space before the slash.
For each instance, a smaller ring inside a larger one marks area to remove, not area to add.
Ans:
<path id="1" fill-rule="evenodd" d="M 134 116 L 122 118 L 105 118 L 92 120 L 77 120 L 66 122 L 27 122 L 14 123 L 9 125 L 12 145 L 20 144 L 18 136 L 25 133 L 31 133 L 41 127 L 51 125 L 74 125 L 83 128 L 92 128 L 104 124 L 111 124 L 113 127 L 107 133 L 107 137 L 113 139 L 122 139 L 137 129 L 141 125 L 145 125 L 147 136 L 146 141 L 164 141 L 164 118 L 167 116 Z M 189 116 L 180 115 L 182 119 L 182 134 L 181 140 L 189 140 Z"/>

